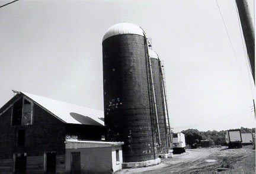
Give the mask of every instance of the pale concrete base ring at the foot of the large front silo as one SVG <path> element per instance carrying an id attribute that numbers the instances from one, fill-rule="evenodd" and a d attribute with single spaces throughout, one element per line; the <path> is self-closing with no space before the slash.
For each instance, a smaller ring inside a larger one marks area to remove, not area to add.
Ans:
<path id="1" fill-rule="evenodd" d="M 161 163 L 160 158 L 153 159 L 153 160 L 147 160 L 145 162 L 122 163 L 122 169 L 136 168 L 136 167 L 148 167 L 148 166 L 159 165 L 160 163 Z"/>

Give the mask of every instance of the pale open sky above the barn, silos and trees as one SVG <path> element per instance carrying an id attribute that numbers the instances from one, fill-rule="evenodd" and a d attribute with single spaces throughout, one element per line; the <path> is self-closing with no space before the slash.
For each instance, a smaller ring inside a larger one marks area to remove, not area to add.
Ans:
<path id="1" fill-rule="evenodd" d="M 0 107 L 14 89 L 103 111 L 102 39 L 131 22 L 164 62 L 174 132 L 255 127 L 235 0 L 21 0 L 0 17 Z"/>

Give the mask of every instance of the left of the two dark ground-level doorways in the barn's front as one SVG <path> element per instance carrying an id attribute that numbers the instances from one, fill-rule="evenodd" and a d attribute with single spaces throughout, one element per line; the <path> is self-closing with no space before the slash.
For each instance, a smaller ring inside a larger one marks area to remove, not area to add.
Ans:
<path id="1" fill-rule="evenodd" d="M 26 173 L 27 155 L 24 153 L 15 154 L 15 172 L 19 174 Z"/>

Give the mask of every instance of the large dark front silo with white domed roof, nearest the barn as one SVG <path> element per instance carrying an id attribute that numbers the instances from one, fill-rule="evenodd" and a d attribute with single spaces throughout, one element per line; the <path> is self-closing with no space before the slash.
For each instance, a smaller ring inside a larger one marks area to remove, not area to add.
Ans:
<path id="1" fill-rule="evenodd" d="M 143 30 L 120 23 L 103 37 L 103 89 L 106 140 L 124 141 L 124 162 L 156 157 L 152 129 L 148 60 Z"/>

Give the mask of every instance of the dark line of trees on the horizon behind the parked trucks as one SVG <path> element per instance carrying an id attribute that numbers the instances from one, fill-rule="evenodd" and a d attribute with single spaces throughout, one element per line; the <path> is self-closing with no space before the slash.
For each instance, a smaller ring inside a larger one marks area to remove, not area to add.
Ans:
<path id="1" fill-rule="evenodd" d="M 241 133 L 255 133 L 255 128 L 240 128 Z M 210 146 L 221 145 L 225 146 L 225 134 L 226 130 L 222 131 L 199 131 L 197 129 L 188 129 L 181 131 L 185 135 L 186 144 L 200 143 L 201 140 L 209 140 Z"/>

